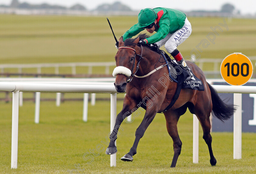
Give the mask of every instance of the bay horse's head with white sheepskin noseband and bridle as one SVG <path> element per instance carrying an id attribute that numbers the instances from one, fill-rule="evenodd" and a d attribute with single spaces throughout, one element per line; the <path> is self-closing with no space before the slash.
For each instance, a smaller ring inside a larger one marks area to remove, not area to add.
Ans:
<path id="1" fill-rule="evenodd" d="M 119 50 L 115 56 L 116 68 L 113 71 L 113 76 L 116 76 L 114 85 L 117 92 L 125 92 L 126 84 L 130 81 L 135 67 L 135 47 L 139 41 L 139 37 L 128 39 L 125 42 L 123 42 L 123 36 L 119 39 Z"/>

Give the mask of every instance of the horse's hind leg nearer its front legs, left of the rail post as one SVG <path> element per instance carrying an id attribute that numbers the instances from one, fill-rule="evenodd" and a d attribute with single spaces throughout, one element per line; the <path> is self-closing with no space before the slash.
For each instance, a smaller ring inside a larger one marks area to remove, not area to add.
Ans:
<path id="1" fill-rule="evenodd" d="M 182 146 L 182 142 L 180 140 L 180 137 L 178 134 L 178 128 L 177 128 L 177 123 L 179 121 L 179 118 L 180 118 L 180 115 L 178 115 L 176 112 L 171 114 L 169 111 L 165 112 L 166 128 L 169 135 L 172 137 L 173 150 L 174 150 L 171 167 L 176 166 L 178 157 L 181 152 L 181 146 Z"/>

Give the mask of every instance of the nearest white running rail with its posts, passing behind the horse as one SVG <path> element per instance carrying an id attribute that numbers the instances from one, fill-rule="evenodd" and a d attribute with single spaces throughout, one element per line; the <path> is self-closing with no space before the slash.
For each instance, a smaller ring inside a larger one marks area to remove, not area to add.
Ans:
<path id="1" fill-rule="evenodd" d="M 256 94 L 254 86 L 225 86 L 212 85 L 219 93 L 238 93 L 234 94 L 234 104 L 238 105 L 238 109 L 234 114 L 234 159 L 241 158 L 241 94 Z M 116 89 L 114 85 L 81 85 L 81 84 L 50 84 L 50 83 L 12 83 L 1 82 L 0 91 L 10 91 L 12 95 L 12 152 L 11 152 L 11 168 L 17 168 L 18 162 L 18 120 L 19 120 L 19 92 L 65 92 L 65 93 L 108 93 L 111 94 L 111 124 L 110 130 L 114 128 L 116 120 Z M 193 162 L 198 162 L 198 122 L 194 119 L 193 133 Z M 197 138 L 196 138 L 197 137 Z M 196 142 L 196 141 L 197 142 Z M 194 151 L 197 148 L 197 151 Z M 196 156 L 197 155 L 197 156 Z M 195 156 L 195 161 L 194 161 Z M 110 166 L 116 166 L 116 154 L 110 156 Z"/>

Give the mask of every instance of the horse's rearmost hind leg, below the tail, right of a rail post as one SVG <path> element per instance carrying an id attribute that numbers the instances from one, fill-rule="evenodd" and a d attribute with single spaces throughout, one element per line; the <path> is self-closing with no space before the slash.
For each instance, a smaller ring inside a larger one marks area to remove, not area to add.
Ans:
<path id="1" fill-rule="evenodd" d="M 196 111 L 195 114 L 197 115 L 197 118 L 202 126 L 202 129 L 203 129 L 203 139 L 209 149 L 210 163 L 212 166 L 214 166 L 214 165 L 216 165 L 217 161 L 212 152 L 212 136 L 210 134 L 210 130 L 211 130 L 210 113 L 211 113 L 211 111 L 209 111 L 209 110 L 205 111 L 204 107 L 200 107 L 200 108 L 201 109 L 199 109 L 199 108 L 195 109 L 195 111 Z"/>

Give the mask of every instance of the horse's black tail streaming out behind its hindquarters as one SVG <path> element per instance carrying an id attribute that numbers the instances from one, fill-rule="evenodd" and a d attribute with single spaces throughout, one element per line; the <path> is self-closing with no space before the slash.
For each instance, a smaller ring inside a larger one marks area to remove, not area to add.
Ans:
<path id="1" fill-rule="evenodd" d="M 228 120 L 236 111 L 236 106 L 233 104 L 226 104 L 219 98 L 217 91 L 208 83 L 212 96 L 212 113 L 213 116 L 223 120 Z"/>

